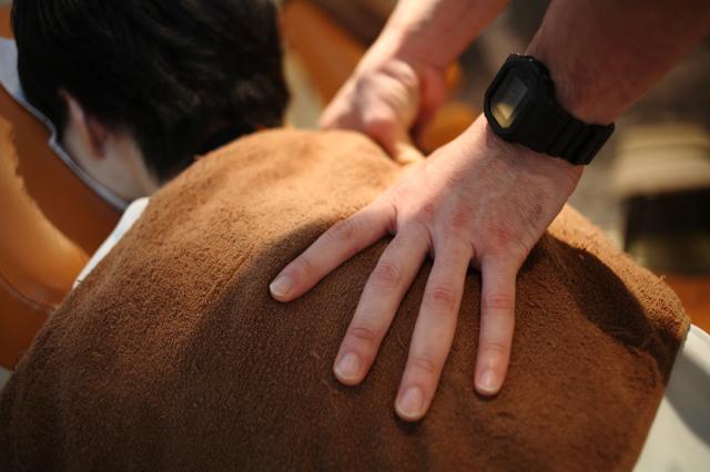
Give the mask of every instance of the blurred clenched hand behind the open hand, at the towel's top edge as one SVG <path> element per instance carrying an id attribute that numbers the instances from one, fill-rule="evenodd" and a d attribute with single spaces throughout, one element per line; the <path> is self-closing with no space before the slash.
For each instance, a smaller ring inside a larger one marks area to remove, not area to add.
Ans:
<path id="1" fill-rule="evenodd" d="M 446 99 L 445 71 L 374 48 L 323 112 L 321 127 L 361 131 L 406 160 L 416 135 Z"/>

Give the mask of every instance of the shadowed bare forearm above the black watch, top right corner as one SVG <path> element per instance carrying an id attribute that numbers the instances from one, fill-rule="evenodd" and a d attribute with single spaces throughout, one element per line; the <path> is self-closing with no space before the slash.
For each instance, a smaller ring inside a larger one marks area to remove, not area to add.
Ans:
<path id="1" fill-rule="evenodd" d="M 527 53 L 569 112 L 610 123 L 709 32 L 707 0 L 557 0 Z"/>

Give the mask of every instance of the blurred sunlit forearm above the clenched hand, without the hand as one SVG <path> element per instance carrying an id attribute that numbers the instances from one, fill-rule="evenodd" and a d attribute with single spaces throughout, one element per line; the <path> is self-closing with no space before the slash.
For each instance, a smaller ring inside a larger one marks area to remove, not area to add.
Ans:
<path id="1" fill-rule="evenodd" d="M 399 0 L 373 50 L 445 69 L 508 0 Z"/>

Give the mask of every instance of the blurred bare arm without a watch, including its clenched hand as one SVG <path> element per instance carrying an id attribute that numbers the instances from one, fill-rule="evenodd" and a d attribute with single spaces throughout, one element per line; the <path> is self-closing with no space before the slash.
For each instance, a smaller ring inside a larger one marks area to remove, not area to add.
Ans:
<path id="1" fill-rule="evenodd" d="M 507 2 L 400 0 L 323 113 L 322 127 L 359 130 L 398 157 L 410 132 L 422 130 L 446 99 L 448 65 Z"/>

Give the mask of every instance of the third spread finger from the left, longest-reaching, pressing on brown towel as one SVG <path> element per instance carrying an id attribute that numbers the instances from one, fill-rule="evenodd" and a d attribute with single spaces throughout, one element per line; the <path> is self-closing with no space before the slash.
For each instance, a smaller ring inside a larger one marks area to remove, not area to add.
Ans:
<path id="1" fill-rule="evenodd" d="M 471 256 L 465 247 L 436 252 L 395 403 L 403 420 L 422 419 L 432 403 L 454 340 Z"/>

